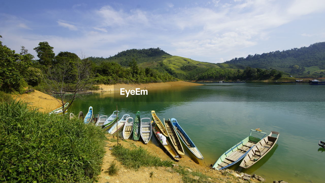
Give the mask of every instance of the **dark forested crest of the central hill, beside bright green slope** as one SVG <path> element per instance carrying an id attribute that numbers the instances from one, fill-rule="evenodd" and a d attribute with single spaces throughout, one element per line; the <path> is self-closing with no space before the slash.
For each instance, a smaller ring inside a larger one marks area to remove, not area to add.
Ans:
<path id="1" fill-rule="evenodd" d="M 171 56 L 160 48 L 149 49 L 128 49 L 126 51 L 119 52 L 118 54 L 109 58 L 103 57 L 89 57 L 95 63 L 101 63 L 104 61 L 117 62 L 123 66 L 128 66 L 132 59 L 135 59 L 137 63 L 160 61 L 163 55 Z"/>

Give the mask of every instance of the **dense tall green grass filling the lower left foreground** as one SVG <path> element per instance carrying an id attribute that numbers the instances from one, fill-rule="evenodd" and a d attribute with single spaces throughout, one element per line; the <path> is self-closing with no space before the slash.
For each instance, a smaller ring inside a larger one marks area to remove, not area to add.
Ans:
<path id="1" fill-rule="evenodd" d="M 0 103 L 0 182 L 93 182 L 104 132 L 68 116 Z"/>

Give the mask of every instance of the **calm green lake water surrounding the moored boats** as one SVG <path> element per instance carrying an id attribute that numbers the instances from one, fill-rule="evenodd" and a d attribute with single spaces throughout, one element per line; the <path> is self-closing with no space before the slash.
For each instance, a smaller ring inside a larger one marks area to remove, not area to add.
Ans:
<path id="1" fill-rule="evenodd" d="M 148 89 L 147 96 L 83 95 L 73 103 L 75 114 L 93 106 L 94 114 L 110 115 L 118 104 L 121 116 L 176 118 L 197 145 L 207 165 L 247 137 L 250 129 L 280 133 L 278 146 L 242 172 L 266 182 L 324 182 L 325 85 L 215 83 L 204 86 Z M 231 169 L 240 170 L 238 165 Z"/>

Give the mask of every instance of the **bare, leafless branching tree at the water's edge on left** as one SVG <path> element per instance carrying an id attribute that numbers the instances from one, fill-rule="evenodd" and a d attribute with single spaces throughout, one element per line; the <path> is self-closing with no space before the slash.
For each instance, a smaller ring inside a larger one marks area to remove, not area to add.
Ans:
<path id="1" fill-rule="evenodd" d="M 46 84 L 50 88 L 50 93 L 57 95 L 55 98 L 63 106 L 63 114 L 76 99 L 77 94 L 88 90 L 92 86 L 94 74 L 91 72 L 91 62 L 87 59 L 74 63 L 62 62 L 48 68 Z M 66 95 L 70 94 L 70 95 Z"/>

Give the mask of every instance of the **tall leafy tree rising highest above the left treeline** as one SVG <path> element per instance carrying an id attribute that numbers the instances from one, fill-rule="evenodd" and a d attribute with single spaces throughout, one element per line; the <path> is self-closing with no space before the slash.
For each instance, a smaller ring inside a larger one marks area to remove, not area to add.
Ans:
<path id="1" fill-rule="evenodd" d="M 53 47 L 51 47 L 48 42 L 40 42 L 38 47 L 34 48 L 37 52 L 38 62 L 41 65 L 50 66 L 52 65 L 54 55 Z"/>

